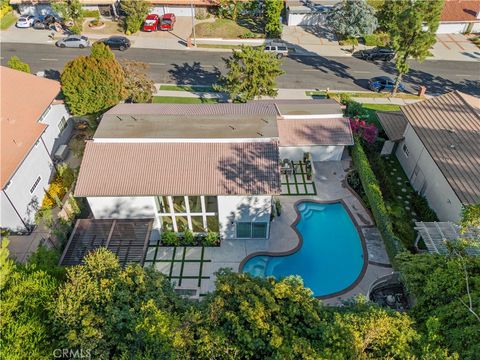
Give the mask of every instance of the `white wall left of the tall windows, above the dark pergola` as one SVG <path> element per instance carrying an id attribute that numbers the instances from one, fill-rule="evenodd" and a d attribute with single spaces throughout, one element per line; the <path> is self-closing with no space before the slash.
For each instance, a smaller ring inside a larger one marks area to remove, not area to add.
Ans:
<path id="1" fill-rule="evenodd" d="M 155 200 L 145 197 L 88 197 L 95 219 L 155 218 Z"/>

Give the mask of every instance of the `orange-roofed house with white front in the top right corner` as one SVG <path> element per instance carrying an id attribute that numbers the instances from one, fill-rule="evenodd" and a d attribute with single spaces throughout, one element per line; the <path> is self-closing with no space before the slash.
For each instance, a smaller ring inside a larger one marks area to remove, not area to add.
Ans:
<path id="1" fill-rule="evenodd" d="M 480 32 L 479 0 L 445 0 L 437 34 Z"/>

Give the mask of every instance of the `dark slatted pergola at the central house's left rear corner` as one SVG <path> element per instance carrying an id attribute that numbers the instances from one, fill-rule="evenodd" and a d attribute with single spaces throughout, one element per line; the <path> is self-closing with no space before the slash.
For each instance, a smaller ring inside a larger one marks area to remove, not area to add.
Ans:
<path id="1" fill-rule="evenodd" d="M 78 265 L 91 251 L 105 247 L 122 266 L 143 265 L 153 219 L 79 219 L 60 258 L 60 265 Z"/>

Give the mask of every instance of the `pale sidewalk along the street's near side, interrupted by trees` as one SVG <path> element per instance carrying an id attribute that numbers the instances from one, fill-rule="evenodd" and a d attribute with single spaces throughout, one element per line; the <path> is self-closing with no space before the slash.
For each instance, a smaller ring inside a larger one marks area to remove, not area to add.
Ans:
<path id="1" fill-rule="evenodd" d="M 155 96 L 162 97 L 181 97 L 181 98 L 203 98 L 203 99 L 218 99 L 220 102 L 226 102 L 228 96 L 225 93 L 217 92 L 195 92 L 195 91 L 175 91 L 175 90 L 160 90 L 160 86 L 164 84 L 155 84 L 157 92 Z M 165 84 L 167 85 L 167 84 Z M 171 85 L 171 84 L 168 84 Z M 193 85 L 195 87 L 195 85 Z M 292 99 L 312 99 L 312 96 L 306 94 L 307 91 L 318 91 L 318 89 L 278 89 L 277 100 L 292 100 Z M 330 89 L 331 92 L 337 92 Z M 338 91 L 341 92 L 341 91 Z M 365 93 L 369 93 L 365 91 Z M 274 99 L 265 97 L 267 99 Z M 385 97 L 355 97 L 355 101 L 362 104 L 389 104 L 389 105 L 407 105 L 422 100 L 417 99 L 400 99 L 400 98 L 385 98 Z"/>

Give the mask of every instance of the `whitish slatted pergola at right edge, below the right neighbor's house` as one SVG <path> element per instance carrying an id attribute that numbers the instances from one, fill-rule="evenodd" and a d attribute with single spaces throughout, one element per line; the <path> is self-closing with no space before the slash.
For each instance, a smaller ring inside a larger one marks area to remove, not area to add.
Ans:
<path id="1" fill-rule="evenodd" d="M 418 245 L 418 241 L 422 238 L 430 253 L 446 254 L 448 252 L 447 242 L 464 238 L 472 241 L 472 245 L 465 249 L 467 254 L 480 255 L 479 237 L 471 232 L 461 234 L 459 226 L 450 221 L 416 222 L 415 230 L 418 232 L 415 246 Z"/>

